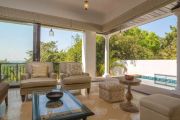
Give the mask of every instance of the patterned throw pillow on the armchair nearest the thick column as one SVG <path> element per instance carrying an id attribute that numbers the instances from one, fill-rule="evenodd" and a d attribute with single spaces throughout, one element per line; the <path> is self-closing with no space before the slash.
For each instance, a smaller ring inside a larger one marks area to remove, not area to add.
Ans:
<path id="1" fill-rule="evenodd" d="M 81 75 L 82 67 L 80 63 L 68 63 L 67 74 L 69 75 Z"/>

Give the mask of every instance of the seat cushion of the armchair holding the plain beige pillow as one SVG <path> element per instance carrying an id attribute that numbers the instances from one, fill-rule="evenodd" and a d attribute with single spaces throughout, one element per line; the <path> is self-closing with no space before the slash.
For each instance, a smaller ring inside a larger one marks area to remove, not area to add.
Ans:
<path id="1" fill-rule="evenodd" d="M 33 88 L 33 87 L 46 87 L 55 86 L 57 84 L 56 79 L 52 78 L 31 78 L 21 81 L 21 88 Z"/>

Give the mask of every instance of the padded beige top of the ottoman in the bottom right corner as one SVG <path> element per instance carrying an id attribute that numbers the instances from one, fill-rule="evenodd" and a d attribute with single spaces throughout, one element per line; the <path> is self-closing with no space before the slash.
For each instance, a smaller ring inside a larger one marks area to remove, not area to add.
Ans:
<path id="1" fill-rule="evenodd" d="M 180 99 L 177 98 L 155 94 L 142 98 L 140 105 L 164 116 L 180 118 Z"/>

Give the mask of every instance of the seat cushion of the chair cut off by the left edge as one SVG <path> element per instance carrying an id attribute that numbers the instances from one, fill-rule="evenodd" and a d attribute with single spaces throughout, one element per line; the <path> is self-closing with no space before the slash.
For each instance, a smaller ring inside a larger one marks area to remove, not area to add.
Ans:
<path id="1" fill-rule="evenodd" d="M 1 82 L 0 83 L 0 101 L 4 98 L 4 96 L 8 93 L 9 84 Z"/>

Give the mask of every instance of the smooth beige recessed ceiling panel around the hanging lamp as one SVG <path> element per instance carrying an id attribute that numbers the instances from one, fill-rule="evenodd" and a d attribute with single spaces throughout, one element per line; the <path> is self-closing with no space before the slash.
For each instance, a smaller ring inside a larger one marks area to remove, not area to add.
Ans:
<path id="1" fill-rule="evenodd" d="M 103 25 L 146 0 L 0 0 L 0 6 Z"/>

